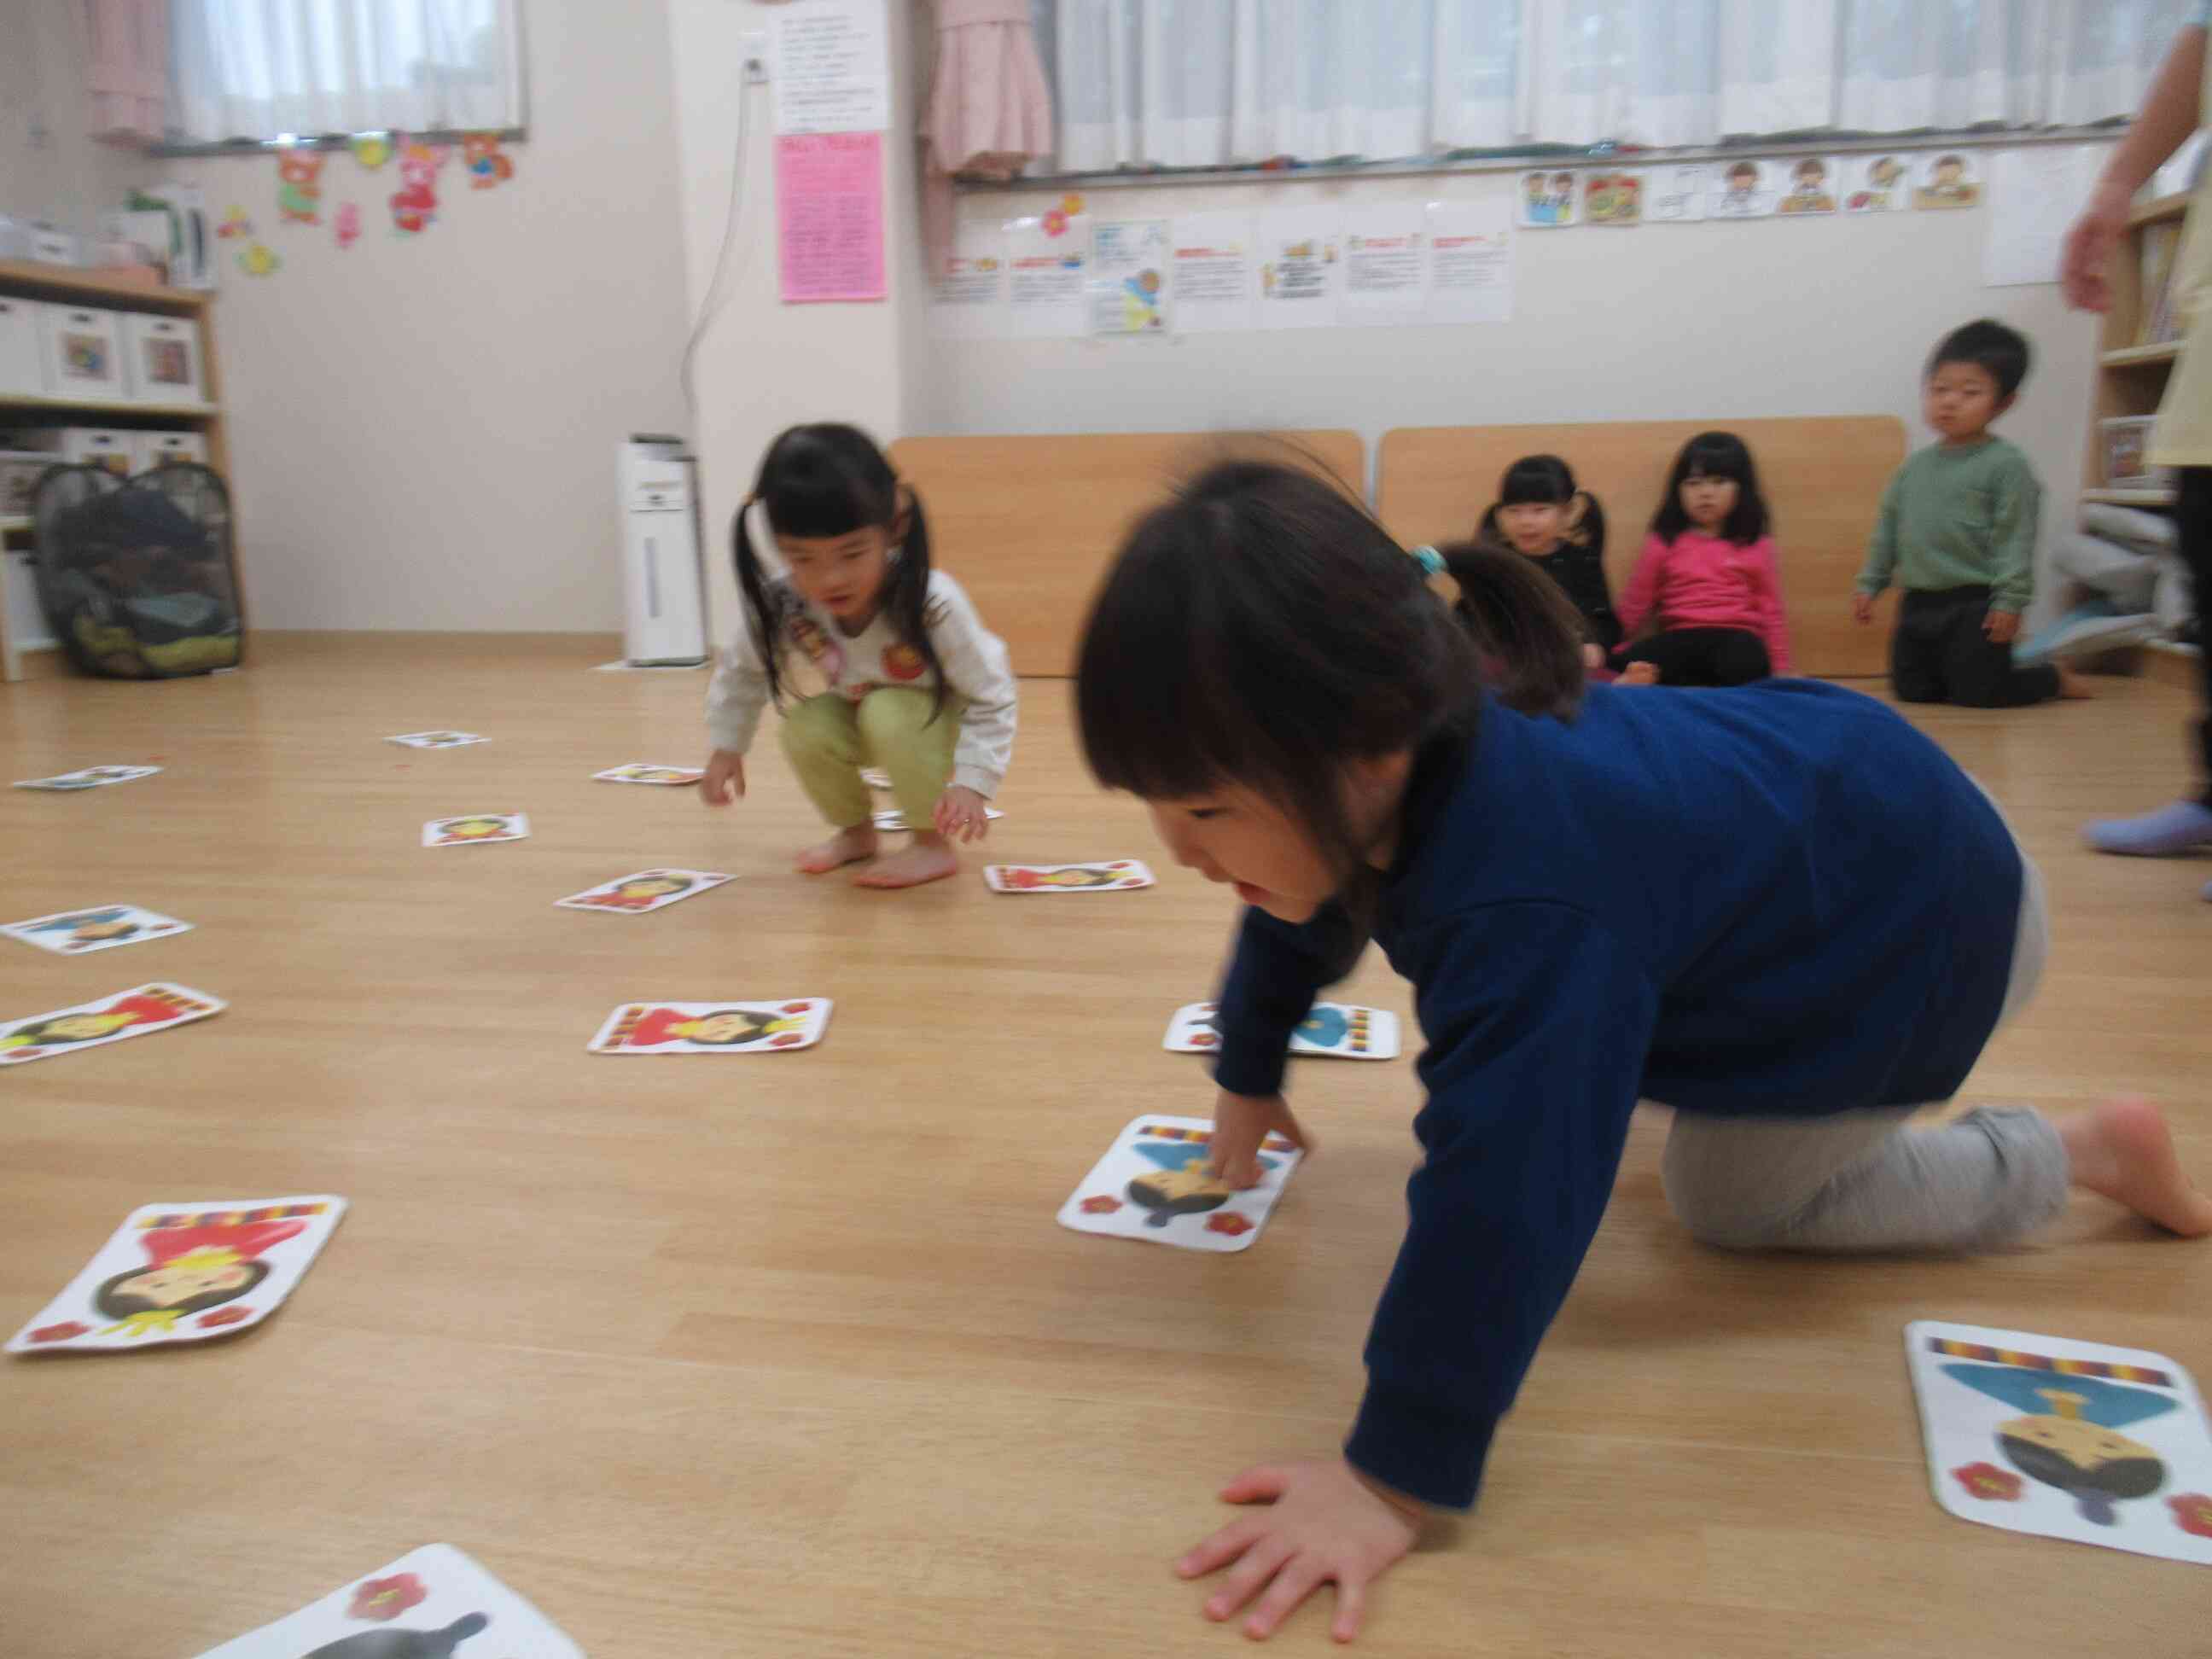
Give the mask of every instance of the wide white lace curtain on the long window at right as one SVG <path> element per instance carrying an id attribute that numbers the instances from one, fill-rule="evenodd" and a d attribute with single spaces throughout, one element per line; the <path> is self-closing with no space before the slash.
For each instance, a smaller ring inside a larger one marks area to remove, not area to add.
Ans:
<path id="1" fill-rule="evenodd" d="M 1064 170 L 2132 115 L 2197 0 L 1033 0 Z"/>

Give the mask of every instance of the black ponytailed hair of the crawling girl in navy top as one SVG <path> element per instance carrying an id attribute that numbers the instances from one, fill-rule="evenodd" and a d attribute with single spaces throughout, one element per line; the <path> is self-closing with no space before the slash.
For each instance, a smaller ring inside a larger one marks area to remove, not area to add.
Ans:
<path id="1" fill-rule="evenodd" d="M 1367 849 L 1345 763 L 1471 737 L 1484 659 L 1513 708 L 1568 717 L 1582 699 L 1582 619 L 1551 577 L 1471 544 L 1442 560 L 1458 619 L 1329 482 L 1208 467 L 1130 529 L 1091 606 L 1075 666 L 1091 772 L 1148 801 L 1256 790 L 1349 887 Z"/>

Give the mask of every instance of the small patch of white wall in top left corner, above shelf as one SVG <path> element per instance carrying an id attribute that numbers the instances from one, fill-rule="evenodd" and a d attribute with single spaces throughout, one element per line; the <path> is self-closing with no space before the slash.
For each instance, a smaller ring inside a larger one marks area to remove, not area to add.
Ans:
<path id="1" fill-rule="evenodd" d="M 88 234 L 148 177 L 84 133 L 91 42 L 82 4 L 0 0 L 0 212 Z"/>

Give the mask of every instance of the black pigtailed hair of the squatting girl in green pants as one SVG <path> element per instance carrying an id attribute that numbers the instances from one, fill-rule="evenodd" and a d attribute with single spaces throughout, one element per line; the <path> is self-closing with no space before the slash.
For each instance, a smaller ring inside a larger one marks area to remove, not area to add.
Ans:
<path id="1" fill-rule="evenodd" d="M 770 597 L 768 577 L 745 529 L 752 502 L 768 511 L 768 529 L 776 535 L 852 535 L 869 526 L 891 531 L 898 524 L 898 509 L 907 509 L 907 533 L 894 549 L 878 599 L 891 617 L 894 633 L 920 653 L 922 666 L 936 679 L 929 719 L 942 714 L 945 664 L 938 661 L 938 648 L 929 639 L 929 524 L 920 498 L 898 482 L 876 440 L 858 427 L 838 422 L 790 427 L 768 445 L 761 471 L 752 480 L 752 495 L 737 509 L 732 531 L 737 586 L 745 595 L 752 644 L 768 670 L 768 695 L 781 708 L 783 672 L 776 664 L 776 635 L 792 599 Z"/>

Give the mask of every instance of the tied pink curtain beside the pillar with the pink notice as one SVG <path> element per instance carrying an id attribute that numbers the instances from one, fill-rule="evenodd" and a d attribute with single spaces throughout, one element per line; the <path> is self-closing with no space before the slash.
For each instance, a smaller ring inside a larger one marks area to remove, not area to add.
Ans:
<path id="1" fill-rule="evenodd" d="M 1053 150 L 1053 95 L 1029 0 L 938 0 L 922 146 L 922 241 L 936 274 L 953 248 L 953 175 L 1011 179 Z"/>

